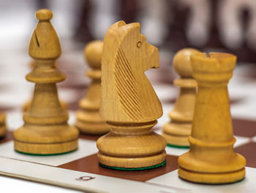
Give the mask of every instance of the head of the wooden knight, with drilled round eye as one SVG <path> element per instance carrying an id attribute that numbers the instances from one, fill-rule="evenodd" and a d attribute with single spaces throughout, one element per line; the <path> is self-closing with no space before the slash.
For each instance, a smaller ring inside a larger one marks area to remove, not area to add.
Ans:
<path id="1" fill-rule="evenodd" d="M 127 62 L 137 71 L 146 71 L 149 68 L 159 68 L 159 52 L 157 47 L 146 42 L 146 37 L 140 34 L 140 23 L 126 24 L 124 21 L 118 21 L 110 26 L 105 39 L 105 55 L 116 56 L 121 52 Z M 111 63 L 115 58 L 107 57 Z M 141 72 L 140 71 L 140 72 Z"/>

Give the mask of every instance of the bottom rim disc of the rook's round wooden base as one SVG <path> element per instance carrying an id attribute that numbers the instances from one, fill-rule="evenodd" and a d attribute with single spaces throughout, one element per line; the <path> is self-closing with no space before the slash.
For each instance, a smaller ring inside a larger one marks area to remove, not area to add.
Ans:
<path id="1" fill-rule="evenodd" d="M 200 184 L 229 184 L 244 179 L 245 169 L 229 173 L 200 173 L 178 167 L 178 176 L 186 181 Z"/>

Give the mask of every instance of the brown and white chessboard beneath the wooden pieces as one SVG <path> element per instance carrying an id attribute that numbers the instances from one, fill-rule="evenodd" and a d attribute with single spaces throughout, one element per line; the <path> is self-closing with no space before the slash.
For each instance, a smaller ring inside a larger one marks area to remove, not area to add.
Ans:
<path id="1" fill-rule="evenodd" d="M 67 75 L 67 79 L 58 87 L 59 98 L 67 103 L 69 109 L 69 124 L 74 125 L 78 101 L 86 93 L 90 80 L 83 74 L 88 68 L 83 61 L 83 48 L 72 44 L 67 47 L 57 60 L 58 68 Z M 253 152 L 256 149 L 256 74 L 251 64 L 238 63 L 228 86 L 236 137 L 234 147 L 236 152 L 246 157 L 246 178 L 235 184 L 205 185 L 178 178 L 177 159 L 189 151 L 186 148 L 167 146 L 165 166 L 140 171 L 99 166 L 97 135 L 80 134 L 78 150 L 69 154 L 35 156 L 16 152 L 12 133 L 23 125 L 22 108 L 30 100 L 34 87 L 24 78 L 31 70 L 31 60 L 24 50 L 16 51 L 12 60 L 8 50 L 6 54 L 1 52 L 0 110 L 7 114 L 9 130 L 7 136 L 0 140 L 1 179 L 19 178 L 22 184 L 32 181 L 39 183 L 39 186 L 50 184 L 58 186 L 58 189 L 62 187 L 80 192 L 256 192 L 256 156 Z M 154 127 L 157 133 L 162 133 L 162 125 L 169 121 L 167 113 L 173 108 L 178 88 L 172 84 L 176 75 L 169 58 L 171 53 L 167 50 L 159 52 L 160 68 L 147 71 L 146 76 L 162 102 L 164 115 Z"/>

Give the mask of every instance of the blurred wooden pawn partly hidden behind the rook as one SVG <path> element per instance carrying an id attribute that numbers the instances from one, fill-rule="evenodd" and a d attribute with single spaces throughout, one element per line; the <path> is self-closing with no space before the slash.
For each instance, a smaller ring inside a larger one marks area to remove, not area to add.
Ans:
<path id="1" fill-rule="evenodd" d="M 192 77 L 190 56 L 195 53 L 199 51 L 185 48 L 177 52 L 173 58 L 173 67 L 181 76 L 174 80 L 173 84 L 181 90 L 173 110 L 168 114 L 171 121 L 163 127 L 162 136 L 170 146 L 189 146 L 187 138 L 191 133 L 197 87 L 197 82 Z"/>

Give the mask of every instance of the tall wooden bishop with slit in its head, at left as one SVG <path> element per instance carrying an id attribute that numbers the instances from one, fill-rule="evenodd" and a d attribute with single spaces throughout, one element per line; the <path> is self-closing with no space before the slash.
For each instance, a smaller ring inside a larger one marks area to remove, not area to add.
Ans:
<path id="1" fill-rule="evenodd" d="M 34 97 L 23 114 L 25 124 L 14 133 L 15 150 L 27 154 L 61 154 L 78 148 L 78 130 L 67 125 L 68 114 L 61 108 L 56 88 L 65 75 L 54 66 L 61 45 L 52 17 L 48 9 L 37 11 L 39 23 L 29 45 L 36 66 L 26 79 L 35 82 Z"/>

